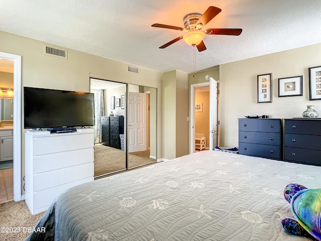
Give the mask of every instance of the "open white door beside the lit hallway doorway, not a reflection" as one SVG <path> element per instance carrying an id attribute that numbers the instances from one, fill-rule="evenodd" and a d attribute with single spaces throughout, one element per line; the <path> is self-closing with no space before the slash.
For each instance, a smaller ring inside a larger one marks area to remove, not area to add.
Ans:
<path id="1" fill-rule="evenodd" d="M 217 146 L 217 82 L 210 77 L 210 150 Z"/>

